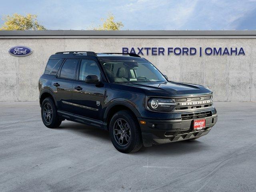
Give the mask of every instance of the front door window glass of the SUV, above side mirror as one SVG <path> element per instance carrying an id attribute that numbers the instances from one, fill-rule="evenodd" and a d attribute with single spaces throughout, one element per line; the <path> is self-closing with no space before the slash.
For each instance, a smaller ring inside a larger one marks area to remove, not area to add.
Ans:
<path id="1" fill-rule="evenodd" d="M 85 80 L 88 75 L 96 75 L 100 79 L 100 69 L 95 61 L 82 59 L 79 80 Z"/>

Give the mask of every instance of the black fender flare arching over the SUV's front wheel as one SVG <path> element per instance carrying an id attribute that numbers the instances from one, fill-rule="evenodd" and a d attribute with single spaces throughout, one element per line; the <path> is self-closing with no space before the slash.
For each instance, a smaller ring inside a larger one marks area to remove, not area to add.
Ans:
<path id="1" fill-rule="evenodd" d="M 132 112 L 135 114 L 136 117 L 141 117 L 140 113 L 138 112 L 138 110 L 136 109 L 136 105 L 131 102 L 130 100 L 124 99 L 124 98 L 116 98 L 113 99 L 109 102 L 105 112 L 104 112 L 104 122 L 107 122 L 107 118 L 108 118 L 108 113 L 109 111 L 117 105 L 123 105 L 126 106 L 127 108 L 129 108 L 130 110 L 132 110 Z"/>

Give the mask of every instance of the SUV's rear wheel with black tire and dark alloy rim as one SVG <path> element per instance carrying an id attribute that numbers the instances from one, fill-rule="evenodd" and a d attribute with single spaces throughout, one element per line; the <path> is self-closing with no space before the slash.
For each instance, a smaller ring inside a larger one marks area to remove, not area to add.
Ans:
<path id="1" fill-rule="evenodd" d="M 58 128 L 62 122 L 57 113 L 57 108 L 52 98 L 47 97 L 41 105 L 41 117 L 44 125 L 48 128 Z"/>

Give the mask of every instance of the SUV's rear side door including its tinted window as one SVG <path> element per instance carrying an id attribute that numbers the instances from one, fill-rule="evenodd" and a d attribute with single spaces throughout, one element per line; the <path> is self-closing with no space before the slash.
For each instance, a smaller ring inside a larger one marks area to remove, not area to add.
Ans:
<path id="1" fill-rule="evenodd" d="M 78 61 L 78 59 L 66 59 L 57 76 L 52 79 L 58 110 L 66 112 L 72 110 L 72 86 L 76 78 Z"/>

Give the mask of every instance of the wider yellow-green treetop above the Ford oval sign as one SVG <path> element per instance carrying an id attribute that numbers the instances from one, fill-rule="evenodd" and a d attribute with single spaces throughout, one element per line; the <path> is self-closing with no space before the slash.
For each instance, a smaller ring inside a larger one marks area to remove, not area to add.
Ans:
<path id="1" fill-rule="evenodd" d="M 37 15 L 26 14 L 26 16 L 14 13 L 2 18 L 4 20 L 3 26 L 0 30 L 46 30 L 43 25 L 37 21 Z"/>

